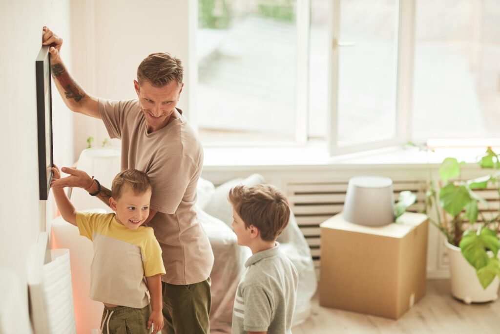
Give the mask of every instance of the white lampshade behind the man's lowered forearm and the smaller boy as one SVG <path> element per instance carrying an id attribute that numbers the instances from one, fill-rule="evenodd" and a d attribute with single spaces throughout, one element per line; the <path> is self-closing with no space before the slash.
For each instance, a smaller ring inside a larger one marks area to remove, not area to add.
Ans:
<path id="1" fill-rule="evenodd" d="M 113 178 L 120 171 L 120 156 L 120 149 L 116 147 L 87 148 L 81 151 L 76 168 L 94 176 L 102 186 L 111 189 Z M 102 208 L 111 212 L 109 206 L 97 197 L 89 196 L 81 188 L 72 188 L 71 203 L 77 211 Z"/>

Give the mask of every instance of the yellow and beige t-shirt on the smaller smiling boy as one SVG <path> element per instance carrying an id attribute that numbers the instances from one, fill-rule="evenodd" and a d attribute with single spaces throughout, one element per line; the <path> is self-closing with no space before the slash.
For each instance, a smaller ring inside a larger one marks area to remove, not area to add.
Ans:
<path id="1" fill-rule="evenodd" d="M 149 301 L 144 276 L 164 274 L 161 248 L 151 227 L 131 230 L 114 213 L 76 214 L 80 235 L 93 243 L 89 298 L 142 308 Z"/>

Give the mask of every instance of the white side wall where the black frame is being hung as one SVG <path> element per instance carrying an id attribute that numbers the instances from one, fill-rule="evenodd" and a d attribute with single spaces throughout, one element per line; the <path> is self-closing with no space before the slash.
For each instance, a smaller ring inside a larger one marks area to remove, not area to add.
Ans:
<path id="1" fill-rule="evenodd" d="M 50 203 L 38 197 L 34 62 L 42 27 L 67 34 L 68 13 L 68 0 L 2 1 L 0 5 L 0 266 L 13 270 L 21 286 L 26 286 L 29 249 L 45 230 L 45 216 L 52 215 Z M 66 164 L 72 158 L 71 116 L 55 100 L 54 160 Z M 18 297 L 27 312 L 27 289 Z"/>

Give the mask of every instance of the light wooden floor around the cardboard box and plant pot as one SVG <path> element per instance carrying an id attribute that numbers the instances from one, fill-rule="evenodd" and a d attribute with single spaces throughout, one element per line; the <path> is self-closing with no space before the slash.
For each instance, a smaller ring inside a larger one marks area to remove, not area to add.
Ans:
<path id="1" fill-rule="evenodd" d="M 500 300 L 466 305 L 450 294 L 449 280 L 427 280 L 427 291 L 399 319 L 342 311 L 318 305 L 314 296 L 312 314 L 292 328 L 293 334 L 336 333 L 500 333 Z"/>

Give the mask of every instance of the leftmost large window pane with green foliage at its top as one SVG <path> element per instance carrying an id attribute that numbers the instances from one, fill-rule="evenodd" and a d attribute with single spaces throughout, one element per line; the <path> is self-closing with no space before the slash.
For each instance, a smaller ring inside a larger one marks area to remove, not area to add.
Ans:
<path id="1" fill-rule="evenodd" d="M 203 142 L 294 141 L 295 0 L 198 0 Z"/>

